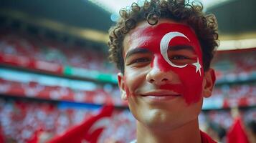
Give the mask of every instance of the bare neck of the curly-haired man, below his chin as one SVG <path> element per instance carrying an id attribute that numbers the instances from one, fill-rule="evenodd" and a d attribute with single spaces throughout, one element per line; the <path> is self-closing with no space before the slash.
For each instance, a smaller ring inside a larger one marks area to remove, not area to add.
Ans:
<path id="1" fill-rule="evenodd" d="M 156 127 L 147 127 L 138 122 L 137 124 L 137 142 L 151 143 L 201 143 L 201 134 L 199 130 L 198 119 L 195 119 L 181 127 L 175 129 L 156 129 Z"/>

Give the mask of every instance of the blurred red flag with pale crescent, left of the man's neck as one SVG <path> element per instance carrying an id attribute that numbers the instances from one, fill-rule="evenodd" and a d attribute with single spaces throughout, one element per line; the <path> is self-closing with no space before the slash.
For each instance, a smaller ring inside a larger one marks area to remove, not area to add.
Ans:
<path id="1" fill-rule="evenodd" d="M 100 134 L 108 126 L 113 109 L 113 105 L 103 107 L 98 115 L 90 117 L 82 124 L 68 129 L 64 134 L 54 137 L 49 143 L 96 143 Z"/>

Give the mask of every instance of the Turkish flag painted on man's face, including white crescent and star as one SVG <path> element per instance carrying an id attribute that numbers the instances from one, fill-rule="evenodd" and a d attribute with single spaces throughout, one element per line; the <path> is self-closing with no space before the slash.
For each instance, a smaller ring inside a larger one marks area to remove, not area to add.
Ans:
<path id="1" fill-rule="evenodd" d="M 130 36 L 131 49 L 150 51 L 153 54 L 151 68 L 172 71 L 179 77 L 180 84 L 165 84 L 159 88 L 179 92 L 187 104 L 198 102 L 202 98 L 204 70 L 201 46 L 194 31 L 176 23 L 137 27 L 135 31 Z"/>

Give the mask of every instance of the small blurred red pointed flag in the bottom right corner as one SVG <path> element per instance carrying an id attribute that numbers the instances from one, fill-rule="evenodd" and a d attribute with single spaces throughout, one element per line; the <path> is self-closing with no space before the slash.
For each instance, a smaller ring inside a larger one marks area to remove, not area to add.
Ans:
<path id="1" fill-rule="evenodd" d="M 227 143 L 249 143 L 244 125 L 240 117 L 234 119 L 232 127 L 227 133 Z"/>

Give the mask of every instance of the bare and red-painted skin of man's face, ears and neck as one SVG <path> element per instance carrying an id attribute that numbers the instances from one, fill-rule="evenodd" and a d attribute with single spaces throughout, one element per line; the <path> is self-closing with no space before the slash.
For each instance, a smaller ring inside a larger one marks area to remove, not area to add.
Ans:
<path id="1" fill-rule="evenodd" d="M 181 30 L 190 41 L 176 37 L 170 42 L 174 45 L 169 44 L 170 47 L 189 45 L 192 50 L 178 48 L 167 52 L 174 64 L 188 65 L 177 68 L 163 59 L 158 45 L 164 34 L 180 31 L 174 28 L 177 24 L 178 28 L 186 26 L 167 19 L 155 26 L 143 21 L 123 41 L 125 71 L 118 74 L 118 84 L 122 99 L 128 101 L 137 119 L 139 143 L 201 142 L 198 115 L 203 97 L 212 94 L 215 74 L 213 69 L 203 71 L 203 68 L 199 69 L 200 74 L 193 65 L 196 62 L 202 65 L 202 51 L 192 29 Z M 146 50 L 131 54 L 141 48 Z"/>

